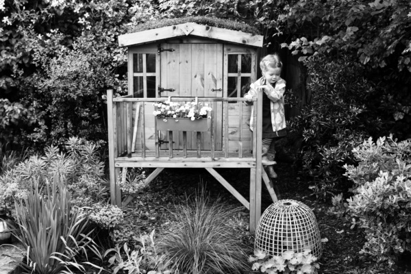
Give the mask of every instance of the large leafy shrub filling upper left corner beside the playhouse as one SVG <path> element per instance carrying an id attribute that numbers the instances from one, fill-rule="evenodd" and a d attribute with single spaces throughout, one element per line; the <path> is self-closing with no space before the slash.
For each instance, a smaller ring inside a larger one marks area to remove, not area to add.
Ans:
<path id="1" fill-rule="evenodd" d="M 27 124 L 10 123 L 3 137 L 35 151 L 62 148 L 69 136 L 105 140 L 102 95 L 108 88 L 125 92 L 125 49 L 116 37 L 136 7 L 114 0 L 0 1 L 1 97 L 21 106 L 18 123 Z M 152 16 L 142 14 L 134 23 Z"/>

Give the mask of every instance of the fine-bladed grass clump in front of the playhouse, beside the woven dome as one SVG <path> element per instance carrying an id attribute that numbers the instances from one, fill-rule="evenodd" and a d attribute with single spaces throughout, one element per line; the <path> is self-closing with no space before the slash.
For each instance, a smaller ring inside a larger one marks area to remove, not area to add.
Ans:
<path id="1" fill-rule="evenodd" d="M 173 210 L 172 228 L 158 240 L 175 273 L 248 273 L 246 247 L 229 225 L 238 209 L 220 199 L 212 202 L 203 191 Z"/>

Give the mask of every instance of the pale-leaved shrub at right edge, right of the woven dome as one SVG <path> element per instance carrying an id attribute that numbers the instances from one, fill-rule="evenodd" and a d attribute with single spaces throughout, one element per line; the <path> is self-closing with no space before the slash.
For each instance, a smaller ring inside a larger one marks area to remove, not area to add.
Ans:
<path id="1" fill-rule="evenodd" d="M 369 138 L 353 153 L 358 166 L 344 166 L 354 183 L 347 213 L 365 229 L 361 253 L 392 265 L 411 251 L 411 139 Z"/>

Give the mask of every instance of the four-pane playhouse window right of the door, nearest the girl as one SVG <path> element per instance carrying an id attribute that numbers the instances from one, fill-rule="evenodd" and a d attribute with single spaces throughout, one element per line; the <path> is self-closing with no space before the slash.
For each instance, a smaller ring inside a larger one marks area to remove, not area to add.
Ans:
<path id="1" fill-rule="evenodd" d="M 227 69 L 227 97 L 243 97 L 251 82 L 251 54 L 229 54 Z"/>

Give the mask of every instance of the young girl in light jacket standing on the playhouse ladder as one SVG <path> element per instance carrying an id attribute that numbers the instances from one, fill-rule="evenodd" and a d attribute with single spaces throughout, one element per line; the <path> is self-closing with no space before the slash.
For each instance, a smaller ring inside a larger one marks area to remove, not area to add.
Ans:
<path id="1" fill-rule="evenodd" d="M 262 92 L 262 164 L 271 178 L 276 178 L 273 169 L 275 159 L 275 139 L 286 136 L 286 117 L 284 114 L 284 92 L 286 81 L 279 77 L 282 62 L 277 54 L 266 55 L 260 62 L 262 77 L 250 85 L 244 97 L 252 101 L 257 92 Z M 252 104 L 252 103 L 247 103 Z M 250 129 L 253 131 L 253 111 Z"/>

